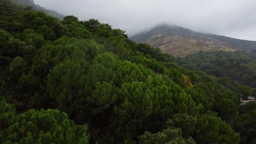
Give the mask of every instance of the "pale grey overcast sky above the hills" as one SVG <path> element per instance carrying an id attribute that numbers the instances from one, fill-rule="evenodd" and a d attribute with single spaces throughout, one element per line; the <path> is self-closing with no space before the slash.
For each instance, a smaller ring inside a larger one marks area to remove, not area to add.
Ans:
<path id="1" fill-rule="evenodd" d="M 256 40 L 255 0 L 34 0 L 79 20 L 97 19 L 129 36 L 170 23 L 196 32 Z"/>

